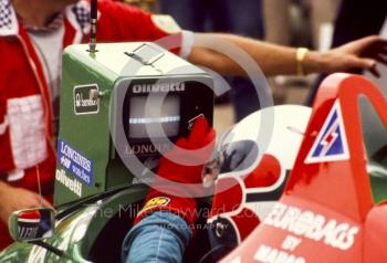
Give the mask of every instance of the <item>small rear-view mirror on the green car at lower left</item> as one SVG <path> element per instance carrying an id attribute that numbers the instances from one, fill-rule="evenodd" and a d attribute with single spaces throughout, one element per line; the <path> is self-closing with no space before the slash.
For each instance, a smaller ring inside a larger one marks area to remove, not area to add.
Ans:
<path id="1" fill-rule="evenodd" d="M 14 211 L 9 218 L 13 240 L 38 241 L 54 234 L 54 211 L 48 208 Z"/>

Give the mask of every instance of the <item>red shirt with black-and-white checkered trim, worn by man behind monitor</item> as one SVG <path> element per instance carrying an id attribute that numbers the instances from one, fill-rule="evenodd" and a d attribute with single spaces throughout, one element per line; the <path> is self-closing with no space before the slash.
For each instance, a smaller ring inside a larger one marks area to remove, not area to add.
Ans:
<path id="1" fill-rule="evenodd" d="M 155 41 L 172 33 L 150 13 L 127 4 L 100 1 L 100 42 Z M 80 1 L 64 11 L 63 46 L 87 42 L 90 4 Z M 174 28 L 171 28 L 174 31 Z M 179 43 L 181 34 L 172 41 Z M 8 0 L 0 0 L 0 179 L 44 196 L 53 193 L 55 147 L 52 105 L 42 64 Z M 11 181 L 12 180 L 12 181 Z M 0 249 L 9 244 L 0 225 Z"/>

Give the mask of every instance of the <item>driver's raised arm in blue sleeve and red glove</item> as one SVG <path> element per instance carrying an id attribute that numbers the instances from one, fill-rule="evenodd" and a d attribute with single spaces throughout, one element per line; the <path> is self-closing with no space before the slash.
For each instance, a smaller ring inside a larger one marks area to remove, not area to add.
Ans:
<path id="1" fill-rule="evenodd" d="M 135 227 L 123 243 L 125 262 L 182 261 L 198 217 L 196 198 L 206 192 L 201 172 L 212 152 L 215 138 L 215 130 L 206 119 L 199 118 L 189 138 L 180 138 L 160 159 L 159 178 L 153 182 Z"/>

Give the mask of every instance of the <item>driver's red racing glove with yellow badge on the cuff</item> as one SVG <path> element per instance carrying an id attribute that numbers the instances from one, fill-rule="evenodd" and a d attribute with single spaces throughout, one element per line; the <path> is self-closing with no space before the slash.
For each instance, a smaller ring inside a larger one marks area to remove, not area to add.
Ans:
<path id="1" fill-rule="evenodd" d="M 205 193 L 202 168 L 212 154 L 215 139 L 216 132 L 208 122 L 205 118 L 197 119 L 189 138 L 180 138 L 176 147 L 160 159 L 157 171 L 159 178 L 153 183 L 135 223 L 147 214 L 161 210 L 179 214 L 188 224 L 195 222 L 195 198 Z"/>

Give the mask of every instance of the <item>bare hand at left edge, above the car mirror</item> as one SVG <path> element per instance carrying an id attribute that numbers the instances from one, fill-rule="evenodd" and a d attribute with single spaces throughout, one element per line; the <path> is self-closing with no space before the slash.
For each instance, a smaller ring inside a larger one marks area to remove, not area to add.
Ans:
<path id="1" fill-rule="evenodd" d="M 13 211 L 41 207 L 52 208 L 49 201 L 35 192 L 0 182 L 0 220 L 3 223 L 8 224 Z"/>

